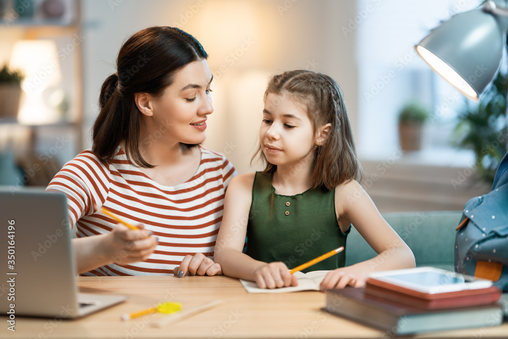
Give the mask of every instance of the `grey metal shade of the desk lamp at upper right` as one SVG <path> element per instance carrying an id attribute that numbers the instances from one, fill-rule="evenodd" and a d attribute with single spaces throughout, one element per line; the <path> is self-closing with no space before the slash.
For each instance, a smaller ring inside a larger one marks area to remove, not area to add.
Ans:
<path id="1" fill-rule="evenodd" d="M 429 66 L 478 101 L 501 64 L 508 20 L 482 9 L 453 16 L 415 48 Z"/>

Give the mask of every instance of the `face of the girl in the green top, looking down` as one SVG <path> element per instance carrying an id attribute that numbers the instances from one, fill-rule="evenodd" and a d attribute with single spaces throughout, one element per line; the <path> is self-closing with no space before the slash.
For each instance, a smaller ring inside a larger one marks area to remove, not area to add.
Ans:
<path id="1" fill-rule="evenodd" d="M 288 95 L 266 96 L 259 140 L 268 162 L 277 166 L 296 166 L 314 157 L 312 122 L 302 105 Z"/>

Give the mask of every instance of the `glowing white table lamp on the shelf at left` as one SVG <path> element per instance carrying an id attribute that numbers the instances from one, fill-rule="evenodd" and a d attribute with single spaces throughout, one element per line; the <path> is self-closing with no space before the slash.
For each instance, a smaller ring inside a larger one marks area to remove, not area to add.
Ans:
<path id="1" fill-rule="evenodd" d="M 18 121 L 26 125 L 52 124 L 60 120 L 54 101 L 62 76 L 53 40 L 19 40 L 14 44 L 11 69 L 20 69 L 25 78 L 21 88 L 25 99 L 21 103 Z"/>

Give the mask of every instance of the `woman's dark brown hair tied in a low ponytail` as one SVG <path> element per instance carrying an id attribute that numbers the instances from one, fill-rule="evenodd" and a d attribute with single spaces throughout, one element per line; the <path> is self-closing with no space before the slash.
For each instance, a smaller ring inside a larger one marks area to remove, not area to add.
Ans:
<path id="1" fill-rule="evenodd" d="M 96 156 L 109 162 L 122 144 L 130 163 L 153 167 L 139 151 L 142 113 L 134 96 L 147 93 L 154 98 L 160 97 L 173 83 L 177 71 L 207 57 L 196 38 L 175 27 L 149 27 L 132 35 L 118 52 L 117 72 L 110 75 L 101 88 L 101 111 L 92 132 Z M 187 148 L 196 146 L 183 145 Z"/>

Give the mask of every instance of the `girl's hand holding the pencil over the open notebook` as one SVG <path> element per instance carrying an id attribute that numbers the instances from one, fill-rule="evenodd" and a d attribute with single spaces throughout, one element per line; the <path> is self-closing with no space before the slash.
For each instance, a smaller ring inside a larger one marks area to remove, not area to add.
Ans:
<path id="1" fill-rule="evenodd" d="M 290 274 L 288 266 L 283 262 L 262 265 L 253 274 L 259 288 L 298 286 L 296 276 Z"/>

